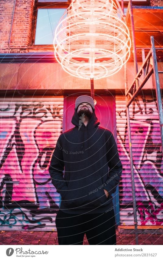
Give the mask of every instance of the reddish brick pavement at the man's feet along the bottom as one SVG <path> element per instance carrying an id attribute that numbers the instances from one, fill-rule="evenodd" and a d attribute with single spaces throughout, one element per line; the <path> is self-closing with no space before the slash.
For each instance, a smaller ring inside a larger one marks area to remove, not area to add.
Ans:
<path id="1" fill-rule="evenodd" d="M 134 234 L 116 231 L 117 245 L 135 245 Z M 140 245 L 163 245 L 163 234 L 139 234 Z M 52 231 L 1 231 L 1 245 L 58 245 L 57 232 Z M 89 245 L 84 236 L 83 245 Z"/>

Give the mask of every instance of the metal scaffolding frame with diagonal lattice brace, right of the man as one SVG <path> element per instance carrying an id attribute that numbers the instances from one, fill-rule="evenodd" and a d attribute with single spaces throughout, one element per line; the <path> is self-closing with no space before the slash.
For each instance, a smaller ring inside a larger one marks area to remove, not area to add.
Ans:
<path id="1" fill-rule="evenodd" d="M 126 99 L 126 114 L 127 114 L 127 126 L 128 126 L 128 138 L 129 138 L 129 156 L 130 156 L 130 167 L 131 167 L 131 178 L 132 178 L 133 214 L 134 214 L 136 244 L 138 244 L 136 196 L 135 196 L 135 183 L 134 183 L 134 170 L 133 170 L 134 165 L 133 165 L 133 158 L 132 158 L 132 139 L 131 139 L 129 106 L 135 100 L 136 96 L 139 94 L 140 90 L 143 88 L 145 83 L 148 81 L 148 79 L 152 75 L 152 73 L 154 73 L 154 82 L 155 82 L 155 88 L 156 88 L 159 124 L 160 124 L 160 132 L 161 132 L 161 153 L 162 153 L 162 150 L 163 150 L 163 111 L 162 111 L 161 89 L 160 89 L 158 73 L 163 73 L 163 72 L 158 71 L 156 49 L 154 46 L 154 37 L 153 36 L 150 37 L 152 47 L 146 58 L 145 58 L 145 52 L 144 52 L 144 50 L 142 50 L 143 64 L 138 71 L 137 56 L 136 56 L 136 42 L 135 42 L 135 29 L 134 29 L 132 1 L 131 0 L 129 0 L 129 11 L 130 11 L 130 21 L 131 21 L 131 31 L 132 31 L 134 68 L 135 68 L 136 77 L 134 78 L 134 81 L 132 82 L 131 87 L 128 88 L 128 86 L 127 86 L 127 68 L 125 66 L 125 99 Z M 157 48 L 157 49 L 163 50 L 162 48 Z M 150 68 L 150 65 L 151 65 L 151 68 Z M 143 74 L 143 81 L 139 85 L 138 78 L 141 76 L 141 74 Z"/>

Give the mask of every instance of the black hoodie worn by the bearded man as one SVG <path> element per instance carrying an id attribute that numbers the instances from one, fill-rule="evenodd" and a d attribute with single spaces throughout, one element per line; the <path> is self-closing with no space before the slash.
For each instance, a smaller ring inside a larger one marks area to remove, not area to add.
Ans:
<path id="1" fill-rule="evenodd" d="M 60 209 L 74 214 L 107 212 L 113 209 L 111 194 L 122 172 L 114 137 L 99 126 L 95 110 L 87 126 L 76 109 L 71 122 L 75 127 L 58 138 L 49 167 L 52 183 L 61 194 Z M 109 192 L 108 198 L 103 189 Z"/>

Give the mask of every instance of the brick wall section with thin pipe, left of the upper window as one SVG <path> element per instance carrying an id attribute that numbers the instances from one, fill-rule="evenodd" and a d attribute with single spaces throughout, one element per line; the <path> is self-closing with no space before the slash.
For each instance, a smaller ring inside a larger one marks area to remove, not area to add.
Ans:
<path id="1" fill-rule="evenodd" d="M 26 52 L 30 40 L 33 4 L 34 0 L 3 0 L 0 2 L 1 53 Z"/>

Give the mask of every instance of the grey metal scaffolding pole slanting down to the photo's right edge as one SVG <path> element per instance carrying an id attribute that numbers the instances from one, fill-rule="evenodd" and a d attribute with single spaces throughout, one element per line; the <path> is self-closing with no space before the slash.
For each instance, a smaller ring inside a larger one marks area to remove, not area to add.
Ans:
<path id="1" fill-rule="evenodd" d="M 150 41 L 152 45 L 152 60 L 153 60 L 153 71 L 154 71 L 154 83 L 156 88 L 156 98 L 157 98 L 157 107 L 158 107 L 158 117 L 160 123 L 160 133 L 161 133 L 161 152 L 163 150 L 163 113 L 162 113 L 162 100 L 161 100 L 161 89 L 158 76 L 158 66 L 157 66 L 157 57 L 156 49 L 154 46 L 154 37 L 150 36 Z"/>

